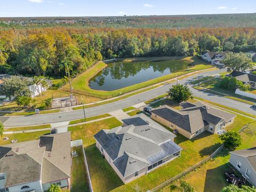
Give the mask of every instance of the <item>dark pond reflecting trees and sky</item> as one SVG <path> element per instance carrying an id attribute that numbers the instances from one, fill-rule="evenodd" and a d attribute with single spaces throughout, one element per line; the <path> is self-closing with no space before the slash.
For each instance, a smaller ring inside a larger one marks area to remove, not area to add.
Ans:
<path id="1" fill-rule="evenodd" d="M 90 79 L 93 90 L 113 91 L 187 69 L 185 60 L 114 62 Z"/>

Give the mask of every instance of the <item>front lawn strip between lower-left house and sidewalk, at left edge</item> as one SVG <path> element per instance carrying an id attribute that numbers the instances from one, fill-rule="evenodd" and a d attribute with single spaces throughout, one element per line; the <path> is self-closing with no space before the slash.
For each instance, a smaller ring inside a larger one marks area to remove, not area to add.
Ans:
<path id="1" fill-rule="evenodd" d="M 4 141 L 3 139 L 0 138 L 0 145 L 10 144 L 11 140 L 13 140 L 13 139 L 17 139 L 18 142 L 39 139 L 39 137 L 42 136 L 45 133 L 50 133 L 50 130 L 47 130 L 47 131 L 37 131 L 37 132 L 33 132 L 33 133 L 4 134 L 3 138 L 4 137 L 9 137 L 9 140 Z"/>

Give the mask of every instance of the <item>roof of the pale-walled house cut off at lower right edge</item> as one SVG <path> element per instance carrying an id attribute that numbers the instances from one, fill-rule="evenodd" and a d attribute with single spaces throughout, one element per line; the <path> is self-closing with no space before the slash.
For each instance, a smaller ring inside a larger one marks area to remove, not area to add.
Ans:
<path id="1" fill-rule="evenodd" d="M 256 171 L 256 147 L 231 151 L 230 153 L 245 157 L 251 164 L 253 169 Z"/>

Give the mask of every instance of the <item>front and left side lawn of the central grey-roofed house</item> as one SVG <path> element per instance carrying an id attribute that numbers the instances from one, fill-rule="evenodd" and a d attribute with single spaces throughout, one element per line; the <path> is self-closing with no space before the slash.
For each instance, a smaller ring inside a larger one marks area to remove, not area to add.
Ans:
<path id="1" fill-rule="evenodd" d="M 100 151 L 95 146 L 95 140 L 93 138 L 93 135 L 101 129 L 113 129 L 120 125 L 122 123 L 112 117 L 102 121 L 69 127 L 73 140 L 83 139 L 94 191 L 108 191 L 109 189 L 123 185 L 112 167 L 102 158 Z"/>

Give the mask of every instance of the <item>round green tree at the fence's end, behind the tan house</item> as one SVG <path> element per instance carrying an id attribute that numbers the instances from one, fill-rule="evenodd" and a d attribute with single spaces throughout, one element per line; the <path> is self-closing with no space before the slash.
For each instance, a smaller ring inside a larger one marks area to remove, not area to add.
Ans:
<path id="1" fill-rule="evenodd" d="M 241 135 L 236 131 L 228 131 L 219 137 L 223 141 L 224 146 L 230 150 L 235 150 L 242 143 Z"/>

